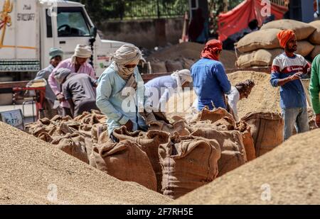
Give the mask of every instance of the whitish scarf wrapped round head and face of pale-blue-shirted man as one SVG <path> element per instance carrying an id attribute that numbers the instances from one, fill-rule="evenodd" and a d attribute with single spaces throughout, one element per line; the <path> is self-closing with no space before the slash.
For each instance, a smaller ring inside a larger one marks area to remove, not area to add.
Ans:
<path id="1" fill-rule="evenodd" d="M 134 68 L 124 67 L 127 64 L 139 64 L 142 58 L 142 52 L 138 47 L 134 45 L 122 45 L 112 56 L 112 61 L 114 61 L 114 67 L 117 73 L 122 79 L 128 81 L 134 74 Z"/>

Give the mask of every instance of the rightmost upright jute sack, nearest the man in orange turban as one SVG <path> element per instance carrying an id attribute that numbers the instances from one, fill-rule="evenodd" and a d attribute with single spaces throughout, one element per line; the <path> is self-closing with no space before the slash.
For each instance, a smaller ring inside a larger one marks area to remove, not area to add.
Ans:
<path id="1" fill-rule="evenodd" d="M 256 157 L 282 144 L 284 120 L 279 113 L 248 113 L 242 120 L 251 127 Z"/>

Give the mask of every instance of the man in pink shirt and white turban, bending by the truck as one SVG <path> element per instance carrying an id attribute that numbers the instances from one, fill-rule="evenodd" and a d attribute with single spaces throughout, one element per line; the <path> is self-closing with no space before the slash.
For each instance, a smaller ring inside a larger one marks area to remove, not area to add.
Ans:
<path id="1" fill-rule="evenodd" d="M 87 63 L 87 59 L 90 58 L 91 55 L 92 50 L 89 46 L 77 45 L 77 47 L 75 47 L 75 54 L 73 57 L 60 62 L 60 64 L 58 64 L 58 66 L 55 67 L 53 72 L 50 74 L 48 82 L 56 98 L 61 103 L 60 106 L 63 108 L 63 116 L 71 116 L 72 113 L 70 112 L 70 106 L 68 102 L 65 101 L 65 96 L 61 92 L 60 84 L 58 85 L 57 81 L 55 80 L 55 72 L 57 72 L 60 68 L 70 69 L 70 71 L 73 73 L 88 74 L 90 77 L 92 77 L 92 79 L 96 79 L 95 70 L 89 63 Z"/>

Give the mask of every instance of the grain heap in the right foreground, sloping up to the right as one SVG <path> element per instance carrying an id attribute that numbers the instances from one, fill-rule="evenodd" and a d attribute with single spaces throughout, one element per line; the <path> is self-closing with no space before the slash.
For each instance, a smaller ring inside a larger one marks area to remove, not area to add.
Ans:
<path id="1" fill-rule="evenodd" d="M 320 204 L 319 135 L 296 135 L 172 204 Z"/>

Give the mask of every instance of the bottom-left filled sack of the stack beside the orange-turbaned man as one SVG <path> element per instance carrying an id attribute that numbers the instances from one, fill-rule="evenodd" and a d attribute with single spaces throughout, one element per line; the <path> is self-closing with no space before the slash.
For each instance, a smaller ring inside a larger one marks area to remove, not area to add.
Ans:
<path id="1" fill-rule="evenodd" d="M 277 55 L 282 54 L 284 50 L 257 50 L 250 53 L 240 55 L 237 60 L 237 67 L 248 68 L 254 66 L 271 66 L 272 62 Z"/>

